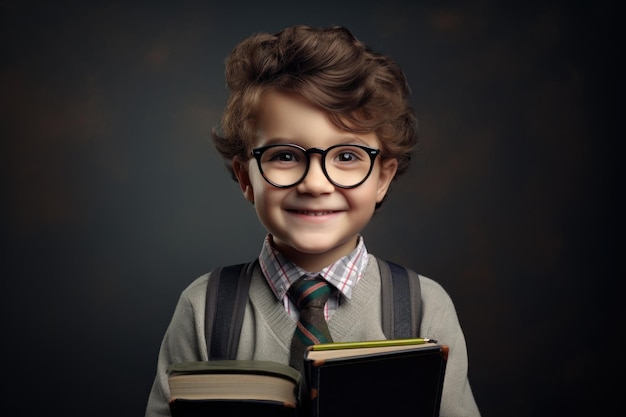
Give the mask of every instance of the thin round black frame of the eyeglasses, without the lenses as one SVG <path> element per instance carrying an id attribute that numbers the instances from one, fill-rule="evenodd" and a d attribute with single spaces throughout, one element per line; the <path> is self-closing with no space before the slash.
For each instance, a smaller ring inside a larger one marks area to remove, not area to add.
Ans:
<path id="1" fill-rule="evenodd" d="M 261 166 L 261 157 L 263 156 L 263 153 L 265 151 L 267 151 L 268 149 L 276 148 L 278 146 L 289 146 L 289 147 L 292 147 L 292 148 L 299 149 L 300 151 L 302 151 L 304 153 L 304 157 L 306 158 L 306 167 L 304 169 L 304 172 L 302 173 L 302 176 L 300 177 L 300 179 L 298 181 L 294 182 L 293 184 L 290 184 L 290 185 L 279 185 L 279 184 L 276 184 L 275 182 L 270 181 L 270 179 L 267 178 L 265 176 L 265 173 L 263 172 L 263 167 Z M 367 154 L 370 157 L 370 168 L 367 171 L 367 174 L 365 175 L 365 177 L 361 181 L 359 181 L 358 183 L 356 183 L 354 185 L 341 185 L 341 184 L 338 184 L 332 178 L 330 178 L 330 175 L 328 175 L 328 171 L 326 170 L 326 155 L 328 154 L 329 151 L 331 151 L 333 149 L 336 149 L 336 148 L 339 148 L 341 146 L 355 146 L 357 148 L 361 148 L 362 150 L 367 152 Z M 340 144 L 337 144 L 337 145 L 330 146 L 330 147 L 328 147 L 326 149 L 321 149 L 321 148 L 305 149 L 302 146 L 296 145 L 294 143 L 276 143 L 276 144 L 267 145 L 267 146 L 260 146 L 258 148 L 252 149 L 252 151 L 251 151 L 251 155 L 256 159 L 257 166 L 259 167 L 259 171 L 261 172 L 261 176 L 263 177 L 263 179 L 265 181 L 267 181 L 270 185 L 273 185 L 276 188 L 291 188 L 291 187 L 295 187 L 296 185 L 298 185 L 302 181 L 304 181 L 304 179 L 306 178 L 307 174 L 309 173 L 309 168 L 311 167 L 311 154 L 318 154 L 318 155 L 320 155 L 320 165 L 322 167 L 322 172 L 324 173 L 324 176 L 326 177 L 326 179 L 331 184 L 333 184 L 335 187 L 339 187 L 339 188 L 343 188 L 343 189 L 352 189 L 352 188 L 358 187 L 359 185 L 361 185 L 365 181 L 367 181 L 367 179 L 371 175 L 372 171 L 374 170 L 374 162 L 376 162 L 376 157 L 380 155 L 380 149 L 371 148 L 369 146 L 353 144 L 353 143 L 340 143 Z"/>

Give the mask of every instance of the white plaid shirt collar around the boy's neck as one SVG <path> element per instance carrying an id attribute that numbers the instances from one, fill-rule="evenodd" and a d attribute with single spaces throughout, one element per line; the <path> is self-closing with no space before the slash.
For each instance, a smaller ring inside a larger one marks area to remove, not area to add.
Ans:
<path id="1" fill-rule="evenodd" d="M 289 290 L 291 284 L 301 277 L 313 277 L 316 275 L 321 275 L 332 284 L 334 290 L 324 307 L 324 315 L 326 320 L 328 320 L 339 307 L 343 297 L 350 299 L 352 288 L 363 275 L 368 260 L 367 249 L 362 236 L 359 236 L 358 244 L 352 252 L 317 272 L 305 271 L 285 258 L 272 246 L 271 235 L 265 237 L 261 254 L 259 255 L 259 265 L 265 275 L 265 279 L 276 298 L 283 301 L 285 310 L 294 320 L 298 319 L 298 309 L 287 296 L 287 290 Z"/>

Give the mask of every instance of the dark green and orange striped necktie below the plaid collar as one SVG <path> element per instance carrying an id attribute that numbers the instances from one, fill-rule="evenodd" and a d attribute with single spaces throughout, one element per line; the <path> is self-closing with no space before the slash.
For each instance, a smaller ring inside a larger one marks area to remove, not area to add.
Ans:
<path id="1" fill-rule="evenodd" d="M 332 342 L 324 318 L 324 304 L 332 291 L 321 276 L 299 279 L 289 287 L 289 296 L 300 310 L 300 319 L 291 341 L 290 365 L 302 372 L 307 346 Z"/>

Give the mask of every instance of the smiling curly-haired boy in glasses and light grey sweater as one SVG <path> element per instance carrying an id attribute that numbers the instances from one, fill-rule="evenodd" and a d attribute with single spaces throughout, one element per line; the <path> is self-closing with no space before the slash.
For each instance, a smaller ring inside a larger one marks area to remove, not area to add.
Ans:
<path id="1" fill-rule="evenodd" d="M 239 43 L 226 62 L 231 91 L 215 146 L 268 234 L 252 275 L 237 359 L 289 363 L 303 276 L 332 285 L 333 341 L 377 340 L 380 274 L 361 231 L 404 173 L 416 122 L 404 74 L 345 28 L 295 26 Z M 206 274 L 186 288 L 167 329 L 146 416 L 168 416 L 166 367 L 207 360 Z M 442 416 L 478 416 L 454 305 L 420 277 L 420 333 L 450 347 Z M 417 370 L 415 372 L 418 372 Z"/>

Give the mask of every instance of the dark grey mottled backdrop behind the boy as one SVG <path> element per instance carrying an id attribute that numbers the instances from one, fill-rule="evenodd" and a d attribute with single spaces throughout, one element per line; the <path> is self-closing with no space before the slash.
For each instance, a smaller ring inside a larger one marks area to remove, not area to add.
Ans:
<path id="1" fill-rule="evenodd" d="M 143 414 L 180 291 L 264 236 L 210 142 L 224 57 L 309 23 L 407 73 L 420 151 L 364 234 L 453 297 L 484 416 L 608 410 L 615 3 L 211 3 L 0 3 L 4 405 Z"/>

